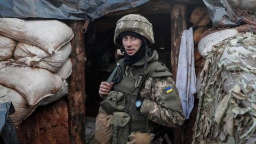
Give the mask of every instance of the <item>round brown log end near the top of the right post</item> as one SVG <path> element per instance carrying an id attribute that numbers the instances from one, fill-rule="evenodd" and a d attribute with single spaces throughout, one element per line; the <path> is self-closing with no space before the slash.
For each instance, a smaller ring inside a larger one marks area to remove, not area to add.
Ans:
<path id="1" fill-rule="evenodd" d="M 194 26 L 206 26 L 211 18 L 205 6 L 198 6 L 190 15 L 190 21 Z"/>

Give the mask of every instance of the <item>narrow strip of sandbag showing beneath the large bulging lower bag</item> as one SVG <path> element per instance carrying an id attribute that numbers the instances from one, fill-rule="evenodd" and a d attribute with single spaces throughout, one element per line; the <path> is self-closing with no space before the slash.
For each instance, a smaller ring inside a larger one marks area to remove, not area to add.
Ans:
<path id="1" fill-rule="evenodd" d="M 66 83 L 66 85 L 63 86 L 62 89 L 58 93 L 56 93 L 55 95 L 51 95 L 49 97 L 45 97 L 44 99 L 42 99 L 39 102 L 39 106 L 48 105 L 49 103 L 57 101 L 57 100 L 59 100 L 60 98 L 62 98 L 63 96 L 65 96 L 67 94 L 68 94 L 68 84 Z"/>

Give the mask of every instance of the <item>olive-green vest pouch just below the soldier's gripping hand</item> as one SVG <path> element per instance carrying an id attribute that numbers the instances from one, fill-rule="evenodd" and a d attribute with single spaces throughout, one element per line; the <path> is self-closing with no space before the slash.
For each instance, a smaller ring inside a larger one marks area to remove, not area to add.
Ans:
<path id="1" fill-rule="evenodd" d="M 100 102 L 100 106 L 109 115 L 113 114 L 114 111 L 123 110 L 125 107 L 124 94 L 121 92 L 110 91 L 106 100 Z"/>

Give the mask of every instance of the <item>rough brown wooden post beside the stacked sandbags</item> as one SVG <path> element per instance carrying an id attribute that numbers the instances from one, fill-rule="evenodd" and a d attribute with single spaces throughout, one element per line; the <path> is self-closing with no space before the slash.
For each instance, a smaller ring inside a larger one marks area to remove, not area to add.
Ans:
<path id="1" fill-rule="evenodd" d="M 69 86 L 69 139 L 71 143 L 85 143 L 85 45 L 81 29 L 84 21 L 73 21 L 71 28 L 74 38 L 71 40 L 72 74 Z"/>

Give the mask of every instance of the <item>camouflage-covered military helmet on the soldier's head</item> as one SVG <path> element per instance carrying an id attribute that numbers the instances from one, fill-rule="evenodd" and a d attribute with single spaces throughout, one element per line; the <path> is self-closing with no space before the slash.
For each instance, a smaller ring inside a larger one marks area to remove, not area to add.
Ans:
<path id="1" fill-rule="evenodd" d="M 116 22 L 114 43 L 120 45 L 120 34 L 126 31 L 138 33 L 148 39 L 150 44 L 154 44 L 154 33 L 152 24 L 140 14 L 129 14 Z"/>

